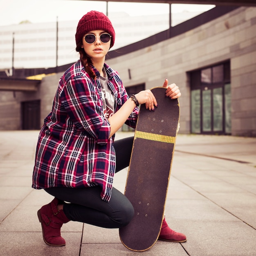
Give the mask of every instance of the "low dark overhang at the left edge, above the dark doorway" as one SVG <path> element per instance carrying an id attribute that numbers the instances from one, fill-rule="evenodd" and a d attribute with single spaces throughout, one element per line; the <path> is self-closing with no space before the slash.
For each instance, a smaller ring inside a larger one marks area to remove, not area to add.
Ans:
<path id="1" fill-rule="evenodd" d="M 0 91 L 35 92 L 41 80 L 0 77 Z"/>

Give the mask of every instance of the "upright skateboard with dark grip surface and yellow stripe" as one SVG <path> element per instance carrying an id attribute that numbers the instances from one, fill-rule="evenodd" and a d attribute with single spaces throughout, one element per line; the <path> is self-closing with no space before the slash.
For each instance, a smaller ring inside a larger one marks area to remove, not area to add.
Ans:
<path id="1" fill-rule="evenodd" d="M 179 101 L 165 97 L 166 88 L 150 90 L 158 107 L 140 107 L 124 192 L 135 215 L 119 229 L 123 245 L 135 252 L 150 249 L 159 237 L 180 118 Z"/>

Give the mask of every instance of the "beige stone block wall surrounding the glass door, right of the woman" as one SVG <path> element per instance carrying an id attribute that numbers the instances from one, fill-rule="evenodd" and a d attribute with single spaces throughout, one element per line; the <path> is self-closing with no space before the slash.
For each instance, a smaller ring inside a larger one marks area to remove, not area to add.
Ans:
<path id="1" fill-rule="evenodd" d="M 126 87 L 145 83 L 146 89 L 176 83 L 180 98 L 180 132 L 190 133 L 188 72 L 231 62 L 232 135 L 256 136 L 256 7 L 240 7 L 207 24 L 108 60 Z M 130 69 L 131 79 L 128 77 Z"/>

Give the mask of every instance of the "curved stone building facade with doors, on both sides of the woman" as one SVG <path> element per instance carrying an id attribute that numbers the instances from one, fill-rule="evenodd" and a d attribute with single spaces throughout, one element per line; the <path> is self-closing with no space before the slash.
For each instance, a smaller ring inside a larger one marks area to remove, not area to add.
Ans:
<path id="1" fill-rule="evenodd" d="M 256 7 L 233 9 L 106 62 L 129 94 L 166 78 L 176 83 L 180 133 L 256 136 Z M 1 91 L 0 129 L 40 128 L 62 74 L 45 76 L 35 91 Z"/>

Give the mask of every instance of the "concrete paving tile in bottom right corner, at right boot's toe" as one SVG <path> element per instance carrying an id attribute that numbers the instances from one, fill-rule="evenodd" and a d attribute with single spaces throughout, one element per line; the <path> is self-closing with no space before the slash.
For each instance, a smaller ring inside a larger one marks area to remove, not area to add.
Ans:
<path id="1" fill-rule="evenodd" d="M 191 256 L 255 256 L 256 231 L 243 222 L 188 221 L 187 242 Z"/>

